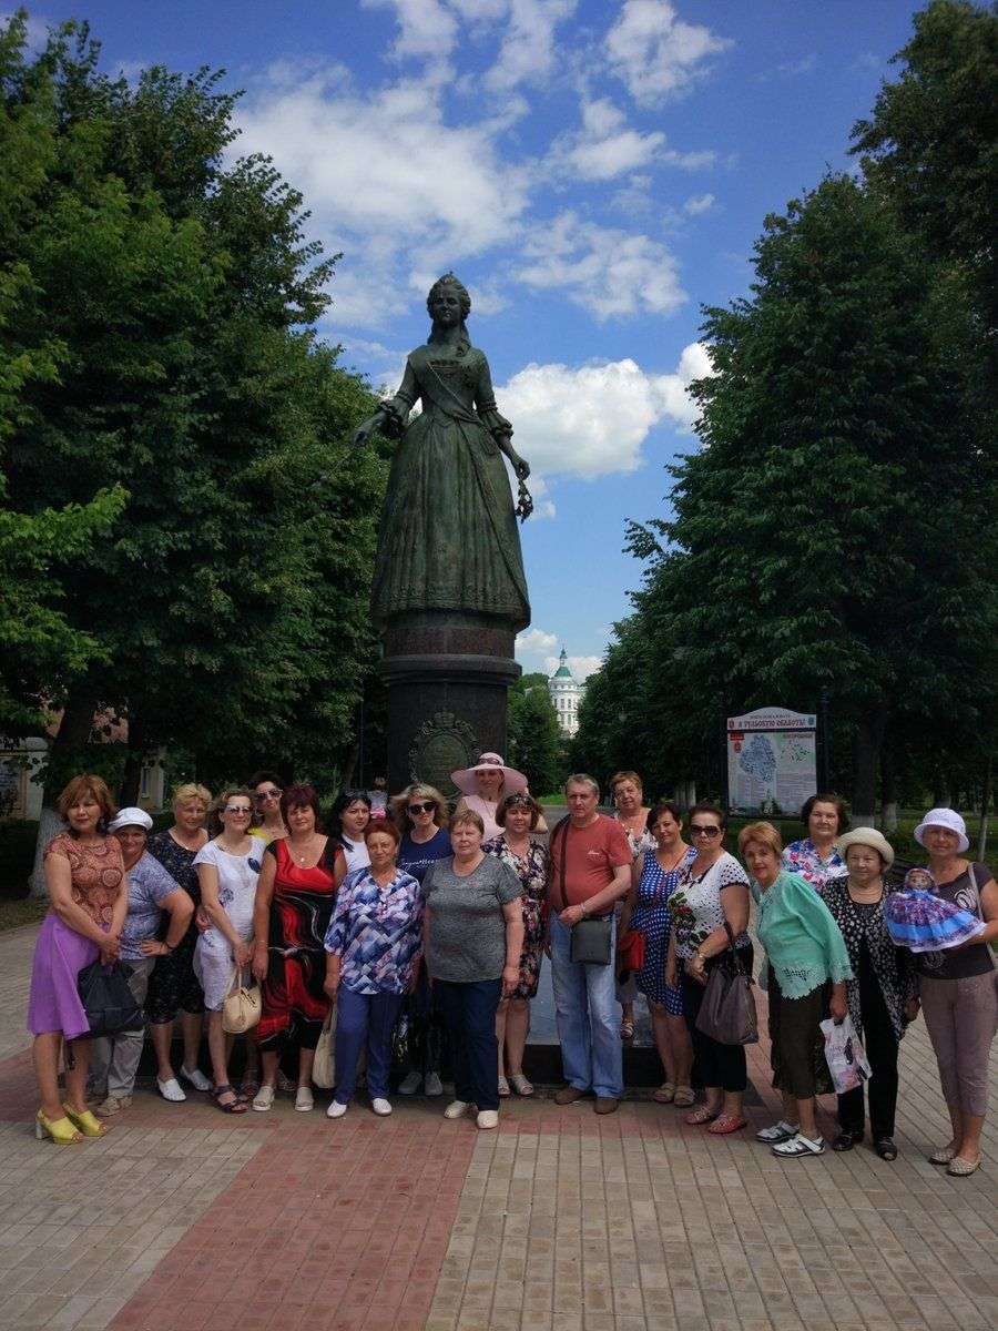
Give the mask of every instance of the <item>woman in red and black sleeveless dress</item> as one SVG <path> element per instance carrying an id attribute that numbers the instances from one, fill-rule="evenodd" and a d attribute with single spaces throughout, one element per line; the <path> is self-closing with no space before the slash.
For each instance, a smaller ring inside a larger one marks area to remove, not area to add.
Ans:
<path id="1" fill-rule="evenodd" d="M 289 787 L 281 813 L 289 832 L 266 848 L 253 920 L 253 974 L 262 990 L 255 1037 L 263 1063 L 253 1107 L 261 1111 L 274 1103 L 278 1062 L 287 1047 L 298 1049 L 294 1107 L 313 1107 L 311 1063 L 329 1013 L 323 940 L 346 874 L 342 847 L 319 831 L 311 785 Z"/>

